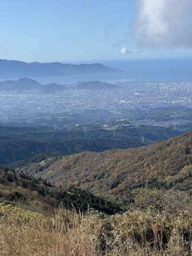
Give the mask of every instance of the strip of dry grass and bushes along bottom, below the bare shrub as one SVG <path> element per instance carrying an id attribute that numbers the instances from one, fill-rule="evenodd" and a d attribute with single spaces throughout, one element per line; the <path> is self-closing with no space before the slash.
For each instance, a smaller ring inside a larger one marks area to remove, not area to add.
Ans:
<path id="1" fill-rule="evenodd" d="M 126 212 L 108 217 L 56 212 L 52 218 L 0 221 L 1 256 L 192 255 L 192 216 Z"/>

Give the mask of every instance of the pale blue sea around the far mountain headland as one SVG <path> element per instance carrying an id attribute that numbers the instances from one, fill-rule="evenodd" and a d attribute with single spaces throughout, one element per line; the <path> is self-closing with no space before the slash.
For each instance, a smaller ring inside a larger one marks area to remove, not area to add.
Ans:
<path id="1" fill-rule="evenodd" d="M 192 81 L 192 58 L 156 58 L 86 61 L 99 62 L 108 67 L 121 70 L 118 73 L 96 73 L 72 76 L 31 77 L 41 84 L 74 84 L 80 81 L 106 82 L 156 82 Z M 18 77 L 9 79 L 16 80 Z M 0 79 L 8 80 L 6 79 Z"/>

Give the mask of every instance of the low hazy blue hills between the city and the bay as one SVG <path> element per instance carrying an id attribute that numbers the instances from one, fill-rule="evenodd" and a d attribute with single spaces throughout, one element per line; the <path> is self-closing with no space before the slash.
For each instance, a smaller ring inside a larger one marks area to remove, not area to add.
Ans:
<path id="1" fill-rule="evenodd" d="M 97 90 L 106 90 L 106 89 L 118 89 L 118 85 L 111 85 L 101 81 L 91 81 L 91 82 L 79 82 L 76 86 L 76 89 L 97 89 Z M 46 93 L 53 92 L 62 92 L 63 90 L 69 89 L 66 85 L 59 85 L 56 83 L 41 85 L 31 78 L 20 78 L 17 81 L 6 80 L 0 82 L 0 90 L 40 90 Z"/>

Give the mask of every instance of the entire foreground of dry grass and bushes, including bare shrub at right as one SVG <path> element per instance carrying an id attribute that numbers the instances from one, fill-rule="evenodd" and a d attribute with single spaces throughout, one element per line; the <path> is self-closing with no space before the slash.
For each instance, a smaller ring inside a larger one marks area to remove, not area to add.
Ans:
<path id="1" fill-rule="evenodd" d="M 143 197 L 141 196 L 143 195 Z M 52 216 L 0 204 L 2 256 L 184 256 L 192 250 L 191 197 L 139 189 L 126 212 L 81 214 L 60 208 Z"/>

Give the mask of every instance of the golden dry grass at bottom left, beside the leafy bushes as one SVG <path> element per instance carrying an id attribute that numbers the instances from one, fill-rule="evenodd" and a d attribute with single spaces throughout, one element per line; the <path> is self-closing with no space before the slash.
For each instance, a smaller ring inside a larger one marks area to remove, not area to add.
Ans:
<path id="1" fill-rule="evenodd" d="M 57 212 L 51 219 L 32 222 L 3 219 L 0 223 L 0 255 L 97 255 L 98 225 L 91 224 L 88 216 L 67 211 Z"/>

